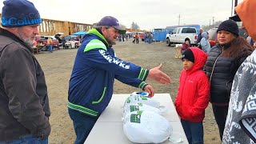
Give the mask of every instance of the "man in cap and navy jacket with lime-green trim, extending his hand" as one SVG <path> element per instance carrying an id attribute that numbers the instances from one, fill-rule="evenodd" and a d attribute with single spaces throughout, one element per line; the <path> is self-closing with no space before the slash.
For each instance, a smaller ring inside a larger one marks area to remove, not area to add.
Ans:
<path id="1" fill-rule="evenodd" d="M 85 142 L 94 123 L 108 106 L 114 78 L 146 90 L 150 97 L 154 96 L 154 89 L 145 82 L 146 78 L 170 83 L 170 77 L 160 70 L 162 64 L 147 70 L 115 56 L 112 46 L 119 34 L 125 33 L 117 18 L 106 16 L 82 38 L 68 91 L 68 110 L 77 135 L 75 144 Z"/>

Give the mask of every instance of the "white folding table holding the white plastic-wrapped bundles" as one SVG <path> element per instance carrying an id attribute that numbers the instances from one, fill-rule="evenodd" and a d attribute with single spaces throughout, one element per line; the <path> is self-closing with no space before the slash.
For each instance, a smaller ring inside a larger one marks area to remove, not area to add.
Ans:
<path id="1" fill-rule="evenodd" d="M 122 126 L 122 106 L 130 94 L 113 94 L 109 106 L 98 118 L 94 128 L 90 131 L 85 144 L 132 144 L 126 135 L 123 133 Z M 161 106 L 166 106 L 167 112 L 162 115 L 166 118 L 170 125 L 173 127 L 173 132 L 182 135 L 183 142 L 181 144 L 187 144 L 185 132 L 182 128 L 180 118 L 174 108 L 170 94 L 155 94 L 154 98 L 160 102 Z M 163 144 L 172 143 L 168 140 Z"/>

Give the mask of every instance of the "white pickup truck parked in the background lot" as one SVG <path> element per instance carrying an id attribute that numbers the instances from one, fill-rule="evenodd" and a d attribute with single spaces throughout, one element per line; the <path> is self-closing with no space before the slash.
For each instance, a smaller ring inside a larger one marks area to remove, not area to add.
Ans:
<path id="1" fill-rule="evenodd" d="M 183 43 L 186 39 L 191 45 L 196 45 L 197 38 L 198 33 L 195 27 L 177 27 L 170 34 L 166 34 L 166 46 Z"/>

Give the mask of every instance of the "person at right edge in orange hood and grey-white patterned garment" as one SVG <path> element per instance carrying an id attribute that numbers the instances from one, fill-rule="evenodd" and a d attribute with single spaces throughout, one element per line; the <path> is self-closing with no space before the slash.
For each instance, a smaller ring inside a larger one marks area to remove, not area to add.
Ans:
<path id="1" fill-rule="evenodd" d="M 234 9 L 242 21 L 247 33 L 256 39 L 255 30 L 255 0 L 244 0 Z M 233 18 L 234 18 L 233 17 Z M 254 42 L 255 43 L 255 42 Z M 230 94 L 229 110 L 226 118 L 222 142 L 256 143 L 256 51 L 246 58 L 234 75 L 233 86 Z"/>

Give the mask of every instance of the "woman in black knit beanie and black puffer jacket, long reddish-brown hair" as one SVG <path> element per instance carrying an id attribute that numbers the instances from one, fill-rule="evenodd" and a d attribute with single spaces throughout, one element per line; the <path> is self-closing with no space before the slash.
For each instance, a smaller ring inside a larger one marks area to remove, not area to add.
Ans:
<path id="1" fill-rule="evenodd" d="M 218 44 L 208 53 L 204 70 L 210 81 L 210 102 L 222 139 L 234 74 L 253 47 L 238 35 L 238 25 L 230 19 L 218 26 L 217 39 Z"/>

